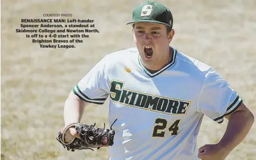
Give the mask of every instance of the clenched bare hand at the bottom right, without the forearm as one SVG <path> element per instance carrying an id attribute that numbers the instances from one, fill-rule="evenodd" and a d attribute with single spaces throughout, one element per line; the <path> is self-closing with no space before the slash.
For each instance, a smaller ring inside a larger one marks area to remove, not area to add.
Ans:
<path id="1" fill-rule="evenodd" d="M 220 145 L 204 145 L 198 149 L 198 158 L 202 160 L 224 160 L 226 158 L 225 149 Z"/>

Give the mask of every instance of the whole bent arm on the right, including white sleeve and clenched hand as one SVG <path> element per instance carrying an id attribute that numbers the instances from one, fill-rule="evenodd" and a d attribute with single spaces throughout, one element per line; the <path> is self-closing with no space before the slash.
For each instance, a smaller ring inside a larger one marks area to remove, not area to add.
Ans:
<path id="1" fill-rule="evenodd" d="M 198 157 L 202 160 L 225 159 L 244 140 L 254 123 L 253 113 L 238 92 L 213 68 L 205 74 L 197 109 L 219 124 L 223 123 L 224 117 L 228 120 L 219 143 L 199 148 Z"/>

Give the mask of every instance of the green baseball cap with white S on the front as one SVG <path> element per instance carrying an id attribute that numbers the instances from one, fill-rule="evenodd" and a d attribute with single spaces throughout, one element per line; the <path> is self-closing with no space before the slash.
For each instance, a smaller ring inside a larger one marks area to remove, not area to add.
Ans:
<path id="1" fill-rule="evenodd" d="M 173 28 L 173 15 L 171 11 L 162 3 L 156 1 L 146 1 L 137 5 L 132 12 L 132 22 L 151 22 L 165 24 Z"/>

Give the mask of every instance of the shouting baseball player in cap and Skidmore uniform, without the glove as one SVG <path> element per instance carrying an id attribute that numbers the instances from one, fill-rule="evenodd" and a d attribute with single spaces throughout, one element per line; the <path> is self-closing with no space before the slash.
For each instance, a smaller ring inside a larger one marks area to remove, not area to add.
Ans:
<path id="1" fill-rule="evenodd" d="M 88 104 L 110 96 L 109 123 L 117 119 L 111 160 L 225 159 L 254 123 L 240 95 L 212 66 L 169 45 L 173 16 L 162 3 L 140 3 L 128 24 L 136 47 L 107 54 L 73 87 L 65 125 L 81 121 Z M 204 115 L 229 122 L 220 142 L 200 147 Z M 69 131 L 79 138 L 74 128 Z"/>

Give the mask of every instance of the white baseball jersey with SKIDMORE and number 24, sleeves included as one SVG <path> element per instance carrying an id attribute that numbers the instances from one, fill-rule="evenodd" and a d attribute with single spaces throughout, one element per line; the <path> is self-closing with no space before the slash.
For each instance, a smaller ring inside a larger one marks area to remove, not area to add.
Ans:
<path id="1" fill-rule="evenodd" d="M 74 86 L 86 102 L 110 96 L 109 123 L 116 123 L 111 160 L 198 159 L 196 137 L 208 116 L 216 123 L 242 103 L 211 66 L 173 48 L 173 57 L 150 73 L 137 48 L 108 54 Z"/>

